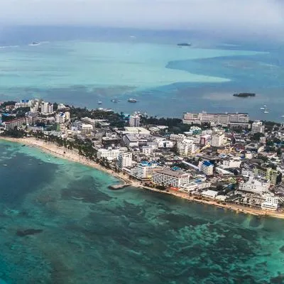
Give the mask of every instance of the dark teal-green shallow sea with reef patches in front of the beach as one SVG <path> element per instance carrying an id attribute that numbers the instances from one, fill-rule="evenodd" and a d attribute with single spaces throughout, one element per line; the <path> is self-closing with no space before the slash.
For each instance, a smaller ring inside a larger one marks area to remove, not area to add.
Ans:
<path id="1" fill-rule="evenodd" d="M 284 221 L 134 187 L 0 142 L 0 278 L 26 283 L 283 283 Z M 42 229 L 17 236 L 17 230 Z"/>

